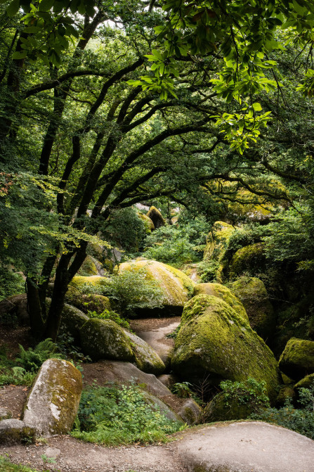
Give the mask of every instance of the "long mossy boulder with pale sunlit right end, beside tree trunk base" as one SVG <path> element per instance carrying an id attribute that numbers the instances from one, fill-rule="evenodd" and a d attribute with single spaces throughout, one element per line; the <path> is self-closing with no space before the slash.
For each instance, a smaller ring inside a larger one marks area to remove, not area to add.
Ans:
<path id="1" fill-rule="evenodd" d="M 145 341 L 110 319 L 91 318 L 81 326 L 81 347 L 93 361 L 112 359 L 135 362 L 138 369 L 161 374 L 164 362 Z"/>

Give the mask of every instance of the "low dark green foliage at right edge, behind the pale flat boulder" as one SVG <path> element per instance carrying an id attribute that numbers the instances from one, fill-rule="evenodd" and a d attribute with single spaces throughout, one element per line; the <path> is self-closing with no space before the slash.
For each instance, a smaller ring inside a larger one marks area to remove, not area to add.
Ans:
<path id="1" fill-rule="evenodd" d="M 284 428 L 292 429 L 297 433 L 314 439 L 314 386 L 299 389 L 299 405 L 294 408 L 291 399 L 286 400 L 284 407 L 280 409 L 268 408 L 259 414 L 254 414 L 253 419 L 274 423 Z"/>

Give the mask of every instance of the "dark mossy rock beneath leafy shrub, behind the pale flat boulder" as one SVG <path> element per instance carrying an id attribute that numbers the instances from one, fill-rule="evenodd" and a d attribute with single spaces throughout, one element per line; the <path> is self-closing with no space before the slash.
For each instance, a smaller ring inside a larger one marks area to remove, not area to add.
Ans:
<path id="1" fill-rule="evenodd" d="M 254 413 L 254 409 L 249 404 L 240 404 L 236 399 L 225 400 L 224 393 L 218 393 L 211 402 L 204 408 L 204 423 L 214 421 L 230 421 L 235 419 L 247 419 Z"/>

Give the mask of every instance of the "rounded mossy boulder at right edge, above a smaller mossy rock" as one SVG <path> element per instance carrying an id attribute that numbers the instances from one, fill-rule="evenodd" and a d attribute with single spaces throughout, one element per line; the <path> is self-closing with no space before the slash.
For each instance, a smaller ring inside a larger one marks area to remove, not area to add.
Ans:
<path id="1" fill-rule="evenodd" d="M 299 381 L 314 374 L 314 341 L 291 338 L 279 359 L 280 370 Z"/>

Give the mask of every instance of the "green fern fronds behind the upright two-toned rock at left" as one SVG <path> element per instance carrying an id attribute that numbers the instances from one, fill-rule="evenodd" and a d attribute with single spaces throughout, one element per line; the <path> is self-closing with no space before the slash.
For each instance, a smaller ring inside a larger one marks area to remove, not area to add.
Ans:
<path id="1" fill-rule="evenodd" d="M 21 364 L 22 367 L 29 372 L 37 372 L 41 367 L 41 364 L 50 357 L 60 358 L 60 355 L 55 353 L 56 345 L 50 338 L 41 341 L 41 343 L 37 344 L 34 349 L 29 347 L 27 350 L 25 350 L 22 345 L 19 346 L 20 357 L 17 357 L 15 362 Z"/>

